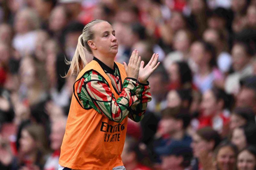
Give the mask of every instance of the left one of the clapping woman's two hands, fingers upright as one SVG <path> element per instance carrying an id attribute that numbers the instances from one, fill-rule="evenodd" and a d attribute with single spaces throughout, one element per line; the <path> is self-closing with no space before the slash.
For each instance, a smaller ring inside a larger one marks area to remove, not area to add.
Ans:
<path id="1" fill-rule="evenodd" d="M 139 52 L 135 49 L 132 51 L 132 55 L 130 57 L 128 66 L 125 62 L 124 63 L 124 69 L 127 74 L 127 77 L 138 79 L 139 71 L 140 71 L 140 60 L 141 57 L 139 56 Z"/>

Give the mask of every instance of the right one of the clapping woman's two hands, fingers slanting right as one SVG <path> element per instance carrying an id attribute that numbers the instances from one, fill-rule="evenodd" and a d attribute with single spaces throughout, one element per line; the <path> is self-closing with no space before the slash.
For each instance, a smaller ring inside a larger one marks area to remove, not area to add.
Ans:
<path id="1" fill-rule="evenodd" d="M 148 62 L 148 64 L 143 68 L 144 61 L 141 61 L 140 63 L 140 71 L 139 71 L 139 78 L 138 81 L 140 83 L 147 83 L 147 80 L 149 76 L 156 70 L 160 62 L 157 63 L 158 60 L 158 54 L 153 54 L 152 58 Z"/>

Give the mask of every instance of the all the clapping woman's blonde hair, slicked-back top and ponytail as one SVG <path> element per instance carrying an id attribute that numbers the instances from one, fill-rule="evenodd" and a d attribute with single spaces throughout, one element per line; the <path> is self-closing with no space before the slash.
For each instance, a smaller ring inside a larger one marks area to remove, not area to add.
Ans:
<path id="1" fill-rule="evenodd" d="M 65 78 L 71 75 L 79 74 L 79 72 L 87 64 L 85 50 L 87 50 L 90 54 L 92 54 L 92 50 L 87 42 L 94 38 L 94 32 L 92 30 L 92 26 L 100 22 L 107 22 L 107 21 L 102 19 L 95 19 L 89 22 L 86 26 L 84 26 L 83 33 L 78 38 L 76 52 L 72 58 L 72 61 L 70 62 L 66 60 L 66 64 L 69 64 L 70 67 L 69 67 L 68 73 L 64 76 Z"/>

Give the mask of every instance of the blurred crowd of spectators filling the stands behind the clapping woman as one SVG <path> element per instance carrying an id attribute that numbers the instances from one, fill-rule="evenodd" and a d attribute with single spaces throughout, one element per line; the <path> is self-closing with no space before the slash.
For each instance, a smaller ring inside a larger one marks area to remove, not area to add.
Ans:
<path id="1" fill-rule="evenodd" d="M 0 0 L 0 169 L 57 170 L 83 27 L 161 65 L 127 170 L 256 170 L 256 0 Z M 89 54 L 88 54 L 89 55 Z M 92 57 L 92 56 L 91 56 Z"/>

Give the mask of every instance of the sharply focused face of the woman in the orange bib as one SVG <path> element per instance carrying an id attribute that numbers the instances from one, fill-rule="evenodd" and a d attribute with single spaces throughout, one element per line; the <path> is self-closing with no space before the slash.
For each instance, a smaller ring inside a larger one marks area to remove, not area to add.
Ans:
<path id="1" fill-rule="evenodd" d="M 108 22 L 100 22 L 92 26 L 92 30 L 94 31 L 93 49 L 103 56 L 116 56 L 118 43 L 112 26 Z"/>

